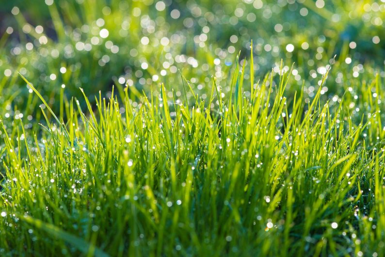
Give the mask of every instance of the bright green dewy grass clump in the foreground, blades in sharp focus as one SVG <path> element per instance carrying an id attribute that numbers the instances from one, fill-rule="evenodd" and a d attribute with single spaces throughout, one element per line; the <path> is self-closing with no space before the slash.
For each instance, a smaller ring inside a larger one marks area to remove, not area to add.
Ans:
<path id="1" fill-rule="evenodd" d="M 248 85 L 234 69 L 229 97 L 213 78 L 207 100 L 161 84 L 134 106 L 118 86 L 58 116 L 22 77 L 46 122 L 0 122 L 1 255 L 383 256 L 384 93 L 364 84 L 354 122 L 349 91 L 306 103 L 282 64 Z"/>

